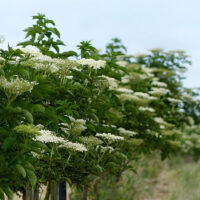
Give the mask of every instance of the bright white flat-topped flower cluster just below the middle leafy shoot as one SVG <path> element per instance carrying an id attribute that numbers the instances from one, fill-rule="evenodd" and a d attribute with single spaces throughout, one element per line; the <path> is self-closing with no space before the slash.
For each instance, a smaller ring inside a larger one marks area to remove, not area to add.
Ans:
<path id="1" fill-rule="evenodd" d="M 86 59 L 86 58 L 82 58 L 81 60 L 77 60 L 76 61 L 78 64 L 80 65 L 88 65 L 89 67 L 93 68 L 93 69 L 101 69 L 104 68 L 106 66 L 106 61 L 104 60 L 93 60 L 93 59 Z"/>

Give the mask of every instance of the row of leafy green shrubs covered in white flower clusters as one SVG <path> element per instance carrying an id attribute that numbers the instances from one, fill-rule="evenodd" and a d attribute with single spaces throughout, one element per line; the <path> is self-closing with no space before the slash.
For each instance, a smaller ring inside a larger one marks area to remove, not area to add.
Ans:
<path id="1" fill-rule="evenodd" d="M 129 55 L 119 39 L 103 53 L 90 41 L 61 52 L 54 21 L 33 19 L 20 48 L 0 50 L 0 199 L 42 184 L 48 199 L 62 181 L 87 196 L 144 154 L 189 144 L 182 132 L 199 122 L 199 104 L 183 87 L 184 52 Z"/>

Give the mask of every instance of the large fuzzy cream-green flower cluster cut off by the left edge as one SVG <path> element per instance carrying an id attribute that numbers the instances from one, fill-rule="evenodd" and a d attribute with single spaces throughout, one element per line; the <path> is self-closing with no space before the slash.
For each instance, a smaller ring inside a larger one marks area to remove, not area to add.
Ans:
<path id="1" fill-rule="evenodd" d="M 7 96 L 19 96 L 24 92 L 31 92 L 33 87 L 38 83 L 35 81 L 29 82 L 24 79 L 16 78 L 8 81 L 5 77 L 0 77 L 0 87 L 4 89 Z"/>

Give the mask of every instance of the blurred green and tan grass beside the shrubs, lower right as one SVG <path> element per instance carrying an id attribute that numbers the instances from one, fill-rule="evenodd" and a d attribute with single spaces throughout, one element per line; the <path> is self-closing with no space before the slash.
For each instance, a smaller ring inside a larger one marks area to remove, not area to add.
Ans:
<path id="1" fill-rule="evenodd" d="M 118 183 L 103 181 L 93 199 L 200 200 L 200 162 L 180 157 L 162 162 L 154 157 L 140 161 L 138 173 L 126 172 Z"/>

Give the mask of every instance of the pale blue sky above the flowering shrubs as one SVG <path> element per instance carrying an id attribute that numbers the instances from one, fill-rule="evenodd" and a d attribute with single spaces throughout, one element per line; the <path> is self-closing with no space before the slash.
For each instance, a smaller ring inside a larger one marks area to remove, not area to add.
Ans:
<path id="1" fill-rule="evenodd" d="M 24 40 L 22 31 L 32 16 L 53 19 L 66 50 L 82 40 L 104 49 L 111 38 L 120 38 L 129 54 L 148 49 L 184 50 L 192 61 L 185 87 L 200 87 L 199 0 L 0 0 L 0 48 Z"/>

